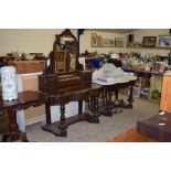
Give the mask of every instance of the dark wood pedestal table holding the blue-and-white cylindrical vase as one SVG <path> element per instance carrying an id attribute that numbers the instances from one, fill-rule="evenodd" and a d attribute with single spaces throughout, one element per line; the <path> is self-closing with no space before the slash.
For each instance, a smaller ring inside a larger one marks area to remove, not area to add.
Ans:
<path id="1" fill-rule="evenodd" d="M 7 101 L 0 95 L 0 110 L 7 110 L 9 115 L 9 132 L 3 135 L 2 141 L 28 141 L 26 135 L 19 130 L 17 124 L 17 110 L 26 109 L 44 104 L 46 97 L 38 92 L 26 90 L 18 94 L 18 99 Z"/>

